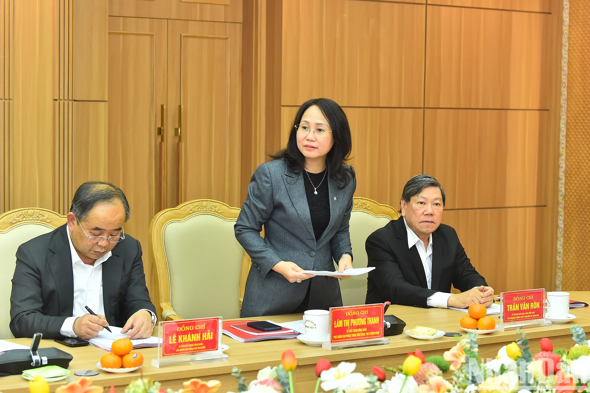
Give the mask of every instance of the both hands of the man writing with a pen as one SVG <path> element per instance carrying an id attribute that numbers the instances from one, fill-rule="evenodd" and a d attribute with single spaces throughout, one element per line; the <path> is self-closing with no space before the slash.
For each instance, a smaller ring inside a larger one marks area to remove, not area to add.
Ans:
<path id="1" fill-rule="evenodd" d="M 96 337 L 101 330 L 109 326 L 104 315 L 85 314 L 74 321 L 73 330 L 78 337 L 88 340 Z M 127 334 L 129 339 L 148 338 L 152 335 L 152 315 L 149 311 L 139 310 L 127 319 L 123 326 L 122 334 Z"/>

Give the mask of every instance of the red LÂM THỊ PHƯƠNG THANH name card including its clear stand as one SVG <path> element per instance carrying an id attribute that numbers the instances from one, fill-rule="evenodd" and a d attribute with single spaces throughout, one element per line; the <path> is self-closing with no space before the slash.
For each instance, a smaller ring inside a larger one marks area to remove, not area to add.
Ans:
<path id="1" fill-rule="evenodd" d="M 330 308 L 330 341 L 323 349 L 363 348 L 389 345 L 383 338 L 383 303 Z"/>

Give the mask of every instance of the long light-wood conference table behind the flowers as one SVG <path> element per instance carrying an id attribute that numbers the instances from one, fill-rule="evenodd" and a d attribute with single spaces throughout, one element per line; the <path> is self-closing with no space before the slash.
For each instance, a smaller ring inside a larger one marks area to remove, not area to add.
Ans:
<path id="1" fill-rule="evenodd" d="M 590 303 L 590 292 L 571 292 L 571 299 L 580 300 Z M 553 342 L 554 348 L 569 348 L 575 342 L 572 341 L 572 335 L 569 329 L 572 325 L 579 325 L 584 328 L 585 332 L 590 332 L 590 308 L 571 309 L 572 314 L 576 315 L 573 322 L 566 324 L 553 324 L 541 328 L 526 328 L 526 337 L 530 339 L 530 351 L 534 355 L 539 349 L 539 339 L 549 337 Z M 407 328 L 415 325 L 428 326 L 430 328 L 440 329 L 445 332 L 463 332 L 459 328 L 459 320 L 466 313 L 451 309 L 423 309 L 408 306 L 394 305 L 389 307 L 387 314 L 394 314 L 407 323 Z M 301 314 L 281 315 L 259 318 L 261 320 L 271 319 L 276 322 L 287 322 L 300 319 Z M 463 332 L 465 333 L 465 332 Z M 520 338 L 516 331 L 493 332 L 487 335 L 480 335 L 479 356 L 481 358 L 494 358 L 501 346 L 517 341 Z M 30 345 L 30 339 L 12 339 L 12 342 L 18 344 Z M 275 366 L 280 364 L 281 354 L 285 349 L 292 349 L 297 357 L 297 369 L 293 373 L 295 390 L 299 392 L 314 391 L 317 381 L 315 375 L 315 365 L 318 359 L 324 358 L 332 362 L 335 366 L 339 362 L 356 362 L 356 370 L 365 375 L 370 374 L 372 366 L 398 366 L 404 361 L 408 352 L 414 352 L 416 348 L 421 349 L 426 357 L 431 355 L 442 355 L 455 345 L 455 338 L 442 337 L 430 341 L 418 340 L 411 338 L 405 333 L 389 337 L 389 345 L 371 346 L 366 348 L 341 349 L 329 351 L 321 346 L 308 346 L 297 339 L 288 340 L 271 340 L 261 342 L 242 343 L 234 339 L 223 336 L 222 342 L 230 348 L 225 351 L 229 356 L 228 361 L 205 363 L 205 364 L 177 364 L 155 368 L 151 365 L 152 359 L 156 358 L 157 348 L 136 349 L 142 353 L 145 362 L 137 371 L 126 374 L 112 374 L 100 371 L 99 375 L 93 378 L 94 385 L 100 385 L 106 388 L 114 386 L 117 392 L 122 393 L 130 381 L 137 378 L 149 377 L 152 381 L 160 381 L 163 388 L 172 388 L 179 390 L 182 388 L 182 382 L 191 378 L 200 379 L 218 379 L 222 382 L 219 392 L 237 392 L 237 382 L 232 377 L 232 368 L 242 369 L 242 375 L 247 377 L 247 384 L 256 378 L 258 370 L 266 366 Z M 83 346 L 79 348 L 70 348 L 57 344 L 53 340 L 42 340 L 40 347 L 55 346 L 63 351 L 70 352 L 74 359 L 70 363 L 71 377 L 79 378 L 73 375 L 77 370 L 98 370 L 96 363 L 102 355 L 106 353 L 103 349 L 94 346 Z M 391 373 L 386 373 L 391 378 Z M 450 375 L 450 374 L 449 374 Z M 447 375 L 447 377 L 449 376 Z M 55 391 L 66 381 L 52 382 L 50 384 L 51 392 Z M 0 392 L 3 393 L 23 393 L 28 392 L 28 381 L 20 375 L 11 375 L 0 378 Z"/>

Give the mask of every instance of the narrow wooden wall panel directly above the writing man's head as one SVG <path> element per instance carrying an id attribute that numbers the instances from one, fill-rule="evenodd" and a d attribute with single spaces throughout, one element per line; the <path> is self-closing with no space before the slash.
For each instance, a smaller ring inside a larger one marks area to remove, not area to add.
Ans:
<path id="1" fill-rule="evenodd" d="M 109 179 L 108 120 L 107 103 L 74 103 L 74 147 L 71 158 L 74 190 L 84 181 Z"/>

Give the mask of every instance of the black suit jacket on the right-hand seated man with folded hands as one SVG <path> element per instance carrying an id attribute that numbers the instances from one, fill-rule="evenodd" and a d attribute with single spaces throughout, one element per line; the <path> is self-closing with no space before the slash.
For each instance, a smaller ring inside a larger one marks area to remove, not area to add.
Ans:
<path id="1" fill-rule="evenodd" d="M 367 266 L 376 267 L 369 272 L 366 304 L 389 300 L 392 304 L 427 307 L 428 296 L 435 292 L 450 293 L 451 284 L 461 292 L 487 286 L 486 280 L 471 265 L 457 232 L 445 224 L 432 232 L 431 289 L 428 289 L 416 246 L 408 249 L 404 217 L 371 233 L 365 248 Z"/>

